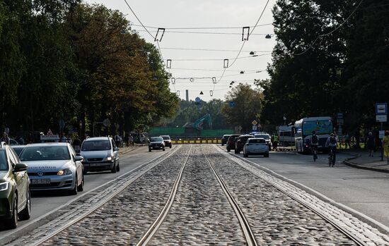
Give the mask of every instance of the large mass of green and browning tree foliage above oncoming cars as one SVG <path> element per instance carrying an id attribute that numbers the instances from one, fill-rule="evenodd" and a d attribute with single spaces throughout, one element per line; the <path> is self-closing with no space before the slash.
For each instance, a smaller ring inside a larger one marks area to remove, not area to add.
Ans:
<path id="1" fill-rule="evenodd" d="M 119 11 L 79 0 L 0 0 L 0 125 L 96 133 L 144 130 L 178 97 L 153 44 Z M 92 133 L 90 133 L 92 134 Z"/>

